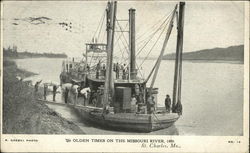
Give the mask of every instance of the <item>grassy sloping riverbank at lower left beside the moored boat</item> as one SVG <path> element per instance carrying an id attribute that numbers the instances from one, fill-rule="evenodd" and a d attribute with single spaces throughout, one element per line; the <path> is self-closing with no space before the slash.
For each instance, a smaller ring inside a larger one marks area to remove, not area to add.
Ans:
<path id="1" fill-rule="evenodd" d="M 37 101 L 26 78 L 35 75 L 20 70 L 12 60 L 3 61 L 3 133 L 4 134 L 85 134 L 77 125 Z"/>

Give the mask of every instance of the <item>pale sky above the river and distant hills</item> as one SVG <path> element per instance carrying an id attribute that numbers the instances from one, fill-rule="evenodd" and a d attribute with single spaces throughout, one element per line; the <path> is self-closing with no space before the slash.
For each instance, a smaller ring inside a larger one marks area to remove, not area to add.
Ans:
<path id="1" fill-rule="evenodd" d="M 136 38 L 144 34 L 136 41 L 137 53 L 142 44 L 149 39 L 150 33 L 157 30 L 164 17 L 171 13 L 177 3 L 118 2 L 117 19 L 128 19 L 128 9 L 136 9 Z M 105 42 L 105 22 L 100 34 L 99 30 L 96 30 L 101 23 L 105 8 L 105 1 L 4 1 L 2 16 L 4 47 L 16 45 L 18 51 L 81 56 L 85 52 L 85 43 L 91 42 L 93 37 L 99 35 L 98 42 Z M 46 18 L 32 21 L 32 18 L 37 17 Z M 68 26 L 63 23 L 67 23 Z M 124 30 L 127 29 L 126 24 L 127 22 L 119 22 Z M 155 24 L 156 26 L 152 28 Z M 118 24 L 116 28 L 120 30 Z M 159 35 L 157 34 L 140 52 L 141 57 L 147 55 L 157 57 L 160 54 L 164 33 L 153 51 L 149 53 Z M 120 41 L 115 45 L 117 55 L 125 52 L 123 48 L 126 41 L 128 42 L 127 35 L 127 33 L 124 35 L 116 33 L 116 39 L 120 37 Z M 175 23 L 165 54 L 175 52 L 176 35 Z M 183 43 L 183 52 L 243 44 L 244 2 L 186 2 Z"/>

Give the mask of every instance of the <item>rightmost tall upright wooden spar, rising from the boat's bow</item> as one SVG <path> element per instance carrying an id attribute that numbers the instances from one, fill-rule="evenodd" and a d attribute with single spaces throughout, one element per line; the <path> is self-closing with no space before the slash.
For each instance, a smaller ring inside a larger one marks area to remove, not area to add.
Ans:
<path id="1" fill-rule="evenodd" d="M 172 111 L 175 109 L 175 105 L 176 105 L 177 100 L 181 101 L 180 95 L 181 95 L 184 6 L 185 6 L 185 2 L 180 2 L 180 4 L 179 4 L 177 45 L 176 45 L 176 57 L 175 57 Z"/>

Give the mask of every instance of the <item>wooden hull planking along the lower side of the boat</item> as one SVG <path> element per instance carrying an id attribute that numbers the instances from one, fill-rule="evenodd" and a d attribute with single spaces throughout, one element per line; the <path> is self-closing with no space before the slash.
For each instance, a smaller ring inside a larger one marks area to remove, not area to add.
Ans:
<path id="1" fill-rule="evenodd" d="M 135 114 L 116 113 L 102 114 L 102 109 L 88 106 L 71 106 L 77 110 L 81 117 L 103 128 L 127 130 L 137 132 L 151 132 L 172 126 L 179 115 L 176 113 L 164 114 Z"/>

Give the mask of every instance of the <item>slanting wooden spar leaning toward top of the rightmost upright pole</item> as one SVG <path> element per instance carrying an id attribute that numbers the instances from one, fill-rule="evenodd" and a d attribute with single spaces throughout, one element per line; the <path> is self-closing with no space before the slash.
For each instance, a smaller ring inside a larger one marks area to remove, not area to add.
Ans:
<path id="1" fill-rule="evenodd" d="M 154 76 L 153 76 L 153 79 L 152 79 L 152 82 L 151 82 L 151 85 L 150 85 L 150 92 L 152 91 L 152 88 L 154 86 L 154 83 L 155 83 L 155 80 L 156 80 L 156 76 L 158 74 L 158 70 L 159 70 L 159 67 L 160 67 L 160 64 L 161 64 L 163 53 L 164 53 L 164 51 L 166 49 L 166 46 L 167 46 L 167 43 L 168 43 L 168 39 L 169 39 L 171 31 L 173 29 L 173 22 L 174 22 L 173 20 L 174 20 L 174 17 L 175 17 L 176 9 L 177 9 L 177 5 L 175 6 L 175 9 L 173 11 L 173 14 L 172 14 L 169 26 L 168 26 L 168 31 L 166 33 L 166 37 L 165 37 L 165 40 L 164 40 L 164 43 L 163 43 L 163 46 L 162 46 L 162 49 L 161 49 L 161 53 L 160 53 L 160 56 L 159 56 L 159 58 L 157 60 L 157 63 L 156 63 L 155 73 L 154 73 Z"/>

